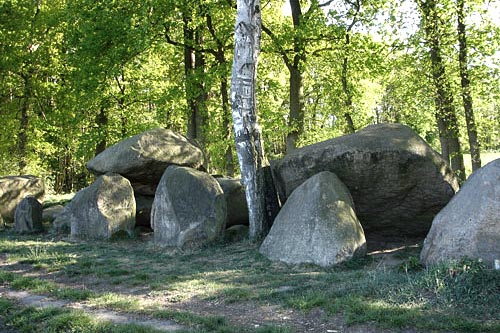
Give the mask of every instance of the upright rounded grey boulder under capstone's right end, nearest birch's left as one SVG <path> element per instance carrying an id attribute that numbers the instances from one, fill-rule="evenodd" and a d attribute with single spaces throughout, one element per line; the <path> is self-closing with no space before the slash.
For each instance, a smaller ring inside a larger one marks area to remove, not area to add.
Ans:
<path id="1" fill-rule="evenodd" d="M 212 176 L 170 166 L 156 190 L 151 211 L 154 241 L 162 247 L 198 247 L 222 236 L 226 200 Z"/>

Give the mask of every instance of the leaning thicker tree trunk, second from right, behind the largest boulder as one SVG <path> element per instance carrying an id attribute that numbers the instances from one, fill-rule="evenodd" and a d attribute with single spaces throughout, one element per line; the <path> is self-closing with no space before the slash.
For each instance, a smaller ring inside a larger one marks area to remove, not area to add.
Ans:
<path id="1" fill-rule="evenodd" d="M 424 29 L 429 45 L 431 72 L 434 81 L 436 121 L 441 142 L 441 154 L 460 181 L 465 180 L 465 167 L 459 141 L 458 120 L 453 106 L 451 85 L 441 54 L 439 15 L 435 0 L 418 1 L 423 14 Z"/>

